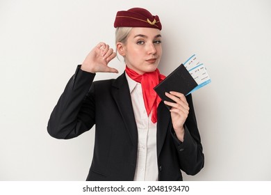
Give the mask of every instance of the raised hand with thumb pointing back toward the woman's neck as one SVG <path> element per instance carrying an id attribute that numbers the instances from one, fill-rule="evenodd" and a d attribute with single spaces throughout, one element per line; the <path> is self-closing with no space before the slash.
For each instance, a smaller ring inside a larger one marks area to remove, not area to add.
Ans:
<path id="1" fill-rule="evenodd" d="M 100 42 L 92 51 L 86 56 L 81 65 L 81 70 L 86 72 L 115 72 L 117 69 L 110 68 L 108 63 L 117 56 L 113 49 L 106 45 L 104 42 Z"/>

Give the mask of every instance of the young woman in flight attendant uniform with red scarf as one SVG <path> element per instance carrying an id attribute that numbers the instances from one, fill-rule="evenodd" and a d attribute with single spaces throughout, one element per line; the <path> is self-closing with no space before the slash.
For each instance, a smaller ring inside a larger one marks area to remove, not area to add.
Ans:
<path id="1" fill-rule="evenodd" d="M 165 76 L 157 67 L 162 55 L 162 25 L 148 10 L 117 12 L 117 52 L 125 72 L 117 79 L 93 81 L 97 72 L 117 72 L 108 63 L 116 53 L 100 42 L 69 80 L 48 123 L 58 139 L 71 139 L 95 125 L 95 149 L 87 180 L 182 180 L 195 175 L 204 154 L 191 95 L 153 90 Z M 172 107 L 168 110 L 166 105 Z"/>

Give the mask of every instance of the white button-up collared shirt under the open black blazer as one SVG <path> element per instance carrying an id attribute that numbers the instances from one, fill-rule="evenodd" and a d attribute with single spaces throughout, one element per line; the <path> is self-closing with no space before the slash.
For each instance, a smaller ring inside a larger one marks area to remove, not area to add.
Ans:
<path id="1" fill-rule="evenodd" d="M 156 125 L 151 122 L 151 114 L 147 116 L 142 95 L 141 84 L 126 74 L 129 84 L 133 113 L 138 127 L 138 159 L 136 163 L 135 181 L 158 180 L 158 164 L 156 149 Z"/>

